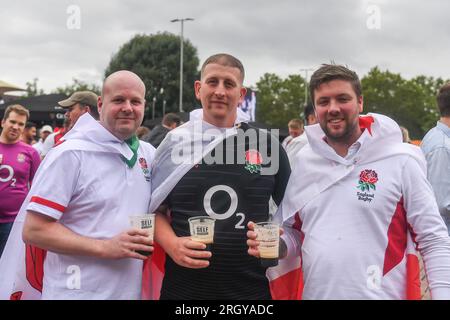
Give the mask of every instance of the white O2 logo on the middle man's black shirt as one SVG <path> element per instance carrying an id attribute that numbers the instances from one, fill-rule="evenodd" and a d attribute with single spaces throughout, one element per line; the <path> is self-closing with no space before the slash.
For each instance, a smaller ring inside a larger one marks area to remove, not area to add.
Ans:
<path id="1" fill-rule="evenodd" d="M 216 192 L 219 191 L 224 191 L 228 193 L 231 199 L 230 207 L 225 213 L 222 214 L 215 212 L 211 206 L 212 197 Z M 233 188 L 230 188 L 229 186 L 223 184 L 211 187 L 208 191 L 206 191 L 205 197 L 203 198 L 203 207 L 205 208 L 205 212 L 208 214 L 208 216 L 217 220 L 225 220 L 230 218 L 236 212 L 237 206 L 238 206 L 238 196 L 236 191 L 234 191 Z M 243 222 L 245 221 L 245 214 L 239 212 L 236 213 L 236 216 L 240 217 L 241 219 L 239 220 L 238 223 L 236 223 L 235 228 L 244 229 L 245 226 Z"/>

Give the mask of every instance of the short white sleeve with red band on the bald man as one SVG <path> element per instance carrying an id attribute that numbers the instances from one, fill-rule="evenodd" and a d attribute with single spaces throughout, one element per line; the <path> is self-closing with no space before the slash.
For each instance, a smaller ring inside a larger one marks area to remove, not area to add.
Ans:
<path id="1" fill-rule="evenodd" d="M 59 220 L 74 194 L 80 173 L 75 151 L 53 152 L 34 178 L 27 210 Z"/>

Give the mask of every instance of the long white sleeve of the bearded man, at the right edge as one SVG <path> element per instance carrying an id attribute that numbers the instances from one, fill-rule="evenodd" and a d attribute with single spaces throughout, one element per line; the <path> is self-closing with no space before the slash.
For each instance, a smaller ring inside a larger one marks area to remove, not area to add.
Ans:
<path id="1" fill-rule="evenodd" d="M 402 170 L 403 205 L 413 239 L 423 256 L 432 299 L 450 299 L 450 237 L 431 185 L 419 163 Z"/>

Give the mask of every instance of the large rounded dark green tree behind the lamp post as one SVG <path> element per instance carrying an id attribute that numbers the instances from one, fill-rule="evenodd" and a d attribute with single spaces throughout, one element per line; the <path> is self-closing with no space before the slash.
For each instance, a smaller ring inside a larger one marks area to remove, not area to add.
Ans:
<path id="1" fill-rule="evenodd" d="M 183 111 L 195 109 L 194 81 L 198 78 L 197 49 L 184 40 L 183 55 Z M 147 93 L 146 118 L 151 117 L 155 100 L 155 116 L 162 116 L 163 101 L 166 113 L 178 112 L 180 79 L 180 37 L 171 33 L 136 35 L 125 43 L 111 59 L 105 77 L 118 70 L 130 70 L 144 81 Z M 161 88 L 163 90 L 161 90 Z"/>

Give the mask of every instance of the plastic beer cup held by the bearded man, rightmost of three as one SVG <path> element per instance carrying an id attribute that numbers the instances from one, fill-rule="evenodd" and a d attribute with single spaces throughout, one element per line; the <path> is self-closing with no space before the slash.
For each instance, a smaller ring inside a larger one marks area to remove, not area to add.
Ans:
<path id="1" fill-rule="evenodd" d="M 278 265 L 280 226 L 274 222 L 255 223 L 256 240 L 259 241 L 259 255 L 263 267 Z"/>

